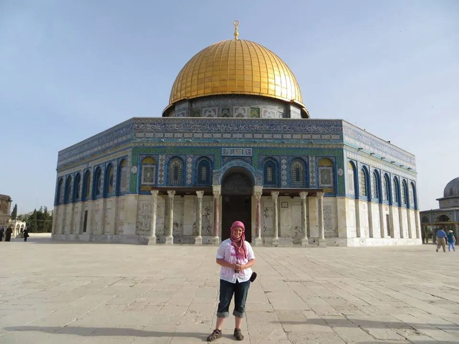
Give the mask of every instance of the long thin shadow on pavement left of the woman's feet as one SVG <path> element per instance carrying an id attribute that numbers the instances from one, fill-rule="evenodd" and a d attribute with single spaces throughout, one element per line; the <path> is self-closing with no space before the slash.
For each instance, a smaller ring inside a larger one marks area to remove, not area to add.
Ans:
<path id="1" fill-rule="evenodd" d="M 74 334 L 84 337 L 183 337 L 200 338 L 206 341 L 208 333 L 197 332 L 161 332 L 145 331 L 127 327 L 85 327 L 85 326 L 65 326 L 65 327 L 46 327 L 46 326 L 17 326 L 5 327 L 7 331 L 35 331 L 51 334 Z"/>

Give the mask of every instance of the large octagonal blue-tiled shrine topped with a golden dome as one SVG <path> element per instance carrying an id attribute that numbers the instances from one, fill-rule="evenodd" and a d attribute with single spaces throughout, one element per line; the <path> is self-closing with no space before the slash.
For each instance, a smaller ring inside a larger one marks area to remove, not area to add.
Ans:
<path id="1" fill-rule="evenodd" d="M 227 39 L 179 72 L 162 117 L 58 154 L 53 238 L 255 245 L 420 244 L 414 155 L 343 120 L 311 119 L 260 44 Z"/>

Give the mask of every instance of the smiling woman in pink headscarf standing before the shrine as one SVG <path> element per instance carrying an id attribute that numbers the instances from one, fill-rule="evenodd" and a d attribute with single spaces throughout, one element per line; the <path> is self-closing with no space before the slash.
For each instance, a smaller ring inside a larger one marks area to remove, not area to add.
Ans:
<path id="1" fill-rule="evenodd" d="M 237 340 L 244 339 L 241 333 L 241 324 L 245 316 L 247 292 L 252 276 L 251 267 L 255 263 L 252 246 L 246 242 L 244 232 L 244 224 L 241 221 L 235 221 L 231 225 L 230 238 L 222 241 L 217 250 L 217 264 L 221 266 L 220 302 L 217 310 L 217 326 L 207 337 L 208 342 L 222 337 L 223 321 L 229 316 L 229 303 L 233 294 L 234 336 Z"/>

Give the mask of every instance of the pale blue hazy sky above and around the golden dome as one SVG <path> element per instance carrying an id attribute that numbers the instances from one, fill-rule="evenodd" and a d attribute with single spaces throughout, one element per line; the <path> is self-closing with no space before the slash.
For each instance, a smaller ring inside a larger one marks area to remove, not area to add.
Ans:
<path id="1" fill-rule="evenodd" d="M 459 1 L 0 1 L 0 194 L 51 209 L 57 152 L 160 117 L 234 19 L 291 67 L 312 118 L 414 153 L 420 207 L 437 207 L 459 176 Z"/>

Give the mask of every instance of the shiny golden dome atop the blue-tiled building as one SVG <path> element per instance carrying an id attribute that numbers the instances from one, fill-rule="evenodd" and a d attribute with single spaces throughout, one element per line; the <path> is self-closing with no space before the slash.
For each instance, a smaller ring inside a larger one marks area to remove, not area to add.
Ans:
<path id="1" fill-rule="evenodd" d="M 254 94 L 298 103 L 297 79 L 271 50 L 245 39 L 209 45 L 188 61 L 172 86 L 169 106 L 215 94 Z"/>

